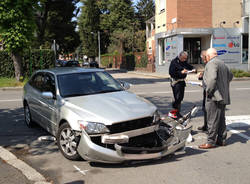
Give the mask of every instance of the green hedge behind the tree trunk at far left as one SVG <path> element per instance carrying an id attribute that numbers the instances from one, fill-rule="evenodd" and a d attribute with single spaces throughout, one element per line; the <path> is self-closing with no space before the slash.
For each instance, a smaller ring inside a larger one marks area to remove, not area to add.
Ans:
<path id="1" fill-rule="evenodd" d="M 30 76 L 34 71 L 52 68 L 55 65 L 52 50 L 31 50 L 23 53 L 23 74 Z M 15 77 L 13 61 L 6 51 L 0 51 L 0 77 Z"/>

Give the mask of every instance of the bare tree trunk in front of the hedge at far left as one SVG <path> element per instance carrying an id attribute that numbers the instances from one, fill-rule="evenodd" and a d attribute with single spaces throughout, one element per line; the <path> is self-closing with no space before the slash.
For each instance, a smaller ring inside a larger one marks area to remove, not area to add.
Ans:
<path id="1" fill-rule="evenodd" d="M 23 80 L 23 71 L 22 71 L 22 57 L 18 52 L 11 53 L 11 58 L 13 60 L 15 68 L 15 77 L 17 81 Z"/>

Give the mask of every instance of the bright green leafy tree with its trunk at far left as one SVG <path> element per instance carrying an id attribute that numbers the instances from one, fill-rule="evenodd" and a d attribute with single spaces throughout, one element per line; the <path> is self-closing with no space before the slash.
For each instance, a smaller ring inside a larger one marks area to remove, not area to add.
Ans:
<path id="1" fill-rule="evenodd" d="M 30 46 L 34 35 L 36 0 L 0 1 L 0 34 L 4 48 L 11 54 L 15 77 L 22 78 L 22 52 Z"/>

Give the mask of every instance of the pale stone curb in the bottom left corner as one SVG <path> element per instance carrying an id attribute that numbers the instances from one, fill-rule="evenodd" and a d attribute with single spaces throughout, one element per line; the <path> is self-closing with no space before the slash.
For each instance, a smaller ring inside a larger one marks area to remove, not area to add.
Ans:
<path id="1" fill-rule="evenodd" d="M 47 182 L 44 176 L 42 176 L 34 168 L 18 159 L 13 153 L 3 148 L 2 146 L 0 146 L 0 158 L 7 162 L 9 165 L 20 170 L 28 180 L 35 182 L 35 184 L 51 184 L 50 182 Z"/>

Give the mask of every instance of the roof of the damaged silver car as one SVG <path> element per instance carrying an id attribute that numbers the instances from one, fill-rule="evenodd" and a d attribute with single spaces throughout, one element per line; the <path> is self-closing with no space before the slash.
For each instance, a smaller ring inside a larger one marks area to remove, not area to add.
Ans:
<path id="1" fill-rule="evenodd" d="M 98 72 L 98 71 L 104 71 L 104 69 L 81 68 L 81 67 L 56 67 L 56 68 L 38 70 L 37 72 L 50 72 L 50 73 L 53 73 L 55 75 L 61 75 L 61 74 Z"/>

